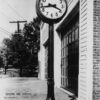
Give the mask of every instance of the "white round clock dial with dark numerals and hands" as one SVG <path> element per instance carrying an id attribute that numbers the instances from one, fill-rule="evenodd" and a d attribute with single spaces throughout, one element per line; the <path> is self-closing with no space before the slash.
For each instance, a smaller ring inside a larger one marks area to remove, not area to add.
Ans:
<path id="1" fill-rule="evenodd" d="M 55 20 L 61 18 L 66 10 L 66 0 L 39 0 L 38 10 L 47 19 Z"/>

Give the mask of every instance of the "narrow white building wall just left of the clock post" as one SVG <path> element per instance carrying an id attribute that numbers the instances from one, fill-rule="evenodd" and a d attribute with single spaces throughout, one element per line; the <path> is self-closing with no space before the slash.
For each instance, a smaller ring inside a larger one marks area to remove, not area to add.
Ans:
<path id="1" fill-rule="evenodd" d="M 45 42 L 48 40 L 48 25 L 42 23 L 40 28 L 39 78 L 45 80 Z"/>

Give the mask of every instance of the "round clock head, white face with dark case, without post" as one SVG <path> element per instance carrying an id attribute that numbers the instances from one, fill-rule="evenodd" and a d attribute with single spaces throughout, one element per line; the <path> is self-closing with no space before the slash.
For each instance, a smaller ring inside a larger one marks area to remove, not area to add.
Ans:
<path id="1" fill-rule="evenodd" d="M 67 1 L 36 0 L 36 12 L 44 22 L 57 23 L 67 12 Z"/>

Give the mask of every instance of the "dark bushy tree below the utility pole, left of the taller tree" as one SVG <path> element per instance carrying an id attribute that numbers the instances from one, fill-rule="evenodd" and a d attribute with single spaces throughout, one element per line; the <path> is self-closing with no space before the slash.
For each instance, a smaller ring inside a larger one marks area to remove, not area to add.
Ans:
<path id="1" fill-rule="evenodd" d="M 7 60 L 7 68 L 9 68 L 9 65 L 12 65 L 13 68 L 20 68 L 21 75 L 22 67 L 27 61 L 27 50 L 23 36 L 21 34 L 13 34 L 11 39 L 4 39 L 4 44 L 6 47 L 4 55 Z"/>

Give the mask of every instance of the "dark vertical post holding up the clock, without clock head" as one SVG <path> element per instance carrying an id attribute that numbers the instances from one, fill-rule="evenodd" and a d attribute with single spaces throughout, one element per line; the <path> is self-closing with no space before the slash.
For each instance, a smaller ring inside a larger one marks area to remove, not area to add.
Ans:
<path id="1" fill-rule="evenodd" d="M 54 96 L 54 24 L 49 23 L 49 46 L 48 46 L 48 79 L 47 99 L 55 100 Z"/>

